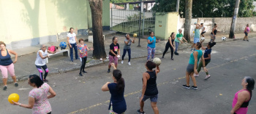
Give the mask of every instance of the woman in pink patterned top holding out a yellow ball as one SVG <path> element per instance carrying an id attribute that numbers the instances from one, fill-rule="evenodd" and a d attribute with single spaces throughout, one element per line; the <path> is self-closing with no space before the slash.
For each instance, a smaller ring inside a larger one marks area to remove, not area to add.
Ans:
<path id="1" fill-rule="evenodd" d="M 33 109 L 33 114 L 51 114 L 50 102 L 48 99 L 55 97 L 56 93 L 37 75 L 29 76 L 28 84 L 33 87 L 29 92 L 29 105 L 13 102 L 14 105 Z M 48 95 L 50 93 L 50 95 Z"/>

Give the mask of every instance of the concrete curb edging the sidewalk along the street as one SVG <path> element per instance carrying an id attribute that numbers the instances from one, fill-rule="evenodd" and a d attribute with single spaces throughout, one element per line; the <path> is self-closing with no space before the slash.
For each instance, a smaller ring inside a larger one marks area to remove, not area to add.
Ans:
<path id="1" fill-rule="evenodd" d="M 116 34 L 116 33 L 111 33 L 112 35 L 113 34 Z M 111 36 L 111 35 L 109 35 Z M 253 38 L 253 37 L 256 37 L 255 36 L 249 36 L 248 38 Z M 238 40 L 241 40 L 243 38 L 235 38 L 233 40 L 227 40 L 227 41 L 216 41 L 218 44 L 219 43 L 223 43 L 223 42 L 229 42 L 229 41 L 238 41 Z M 191 44 L 186 44 L 186 46 L 182 47 L 182 48 L 179 48 L 178 50 L 181 51 L 181 50 L 184 50 L 184 49 L 188 49 L 189 47 L 191 46 Z M 34 52 L 32 52 L 34 53 Z M 163 53 L 163 50 L 162 49 L 157 49 L 156 50 L 156 55 L 160 55 Z M 167 52 L 167 53 L 170 53 L 170 52 Z M 143 58 L 143 57 L 147 57 L 147 55 L 142 55 L 142 56 L 138 56 L 138 57 L 134 57 L 134 58 L 131 58 L 131 59 L 138 59 L 138 58 Z M 125 58 L 126 60 L 127 58 Z M 109 60 L 103 60 L 103 61 L 99 61 L 99 60 L 91 60 L 93 63 L 87 63 L 86 64 L 86 68 L 91 68 L 91 67 L 94 67 L 96 65 L 101 65 L 101 64 L 105 64 L 107 63 L 108 64 L 108 61 Z M 118 61 L 121 61 L 121 58 L 118 59 Z M 60 70 L 53 70 L 51 71 L 50 73 L 48 73 L 48 76 L 51 76 L 51 75 L 54 75 L 54 74 L 60 74 L 60 73 L 66 73 L 66 72 L 69 72 L 69 71 L 73 71 L 73 70 L 79 70 L 80 69 L 80 65 L 78 66 L 75 66 L 73 68 L 68 68 L 68 69 L 60 69 Z M 107 68 L 106 68 L 107 69 Z M 106 70 L 106 73 L 107 73 L 107 70 Z M 36 73 L 37 74 L 37 73 Z M 31 75 L 31 74 L 30 74 Z M 26 76 L 16 76 L 17 78 L 17 81 L 26 81 L 28 78 L 29 78 L 29 75 L 26 75 Z M 10 84 L 12 83 L 12 78 L 9 78 L 7 83 Z M 0 82 L 0 85 L 2 85 L 2 82 Z"/>

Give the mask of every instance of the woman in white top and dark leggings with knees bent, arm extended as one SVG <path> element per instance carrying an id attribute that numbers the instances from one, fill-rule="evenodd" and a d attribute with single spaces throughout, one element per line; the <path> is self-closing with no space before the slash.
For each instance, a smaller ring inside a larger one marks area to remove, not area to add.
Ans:
<path id="1" fill-rule="evenodd" d="M 34 64 L 36 65 L 37 67 L 37 70 L 39 71 L 39 76 L 41 78 L 42 81 L 48 81 L 46 80 L 46 76 L 48 75 L 48 68 L 47 68 L 47 65 L 46 65 L 46 58 L 49 58 L 48 56 L 48 53 L 50 54 L 55 54 L 55 52 L 50 52 L 48 49 L 46 49 L 46 46 L 45 45 L 41 45 L 41 49 L 39 49 L 39 51 L 37 52 L 37 59 L 36 61 L 34 62 Z M 45 70 L 45 76 L 43 77 L 42 76 L 42 69 Z"/>

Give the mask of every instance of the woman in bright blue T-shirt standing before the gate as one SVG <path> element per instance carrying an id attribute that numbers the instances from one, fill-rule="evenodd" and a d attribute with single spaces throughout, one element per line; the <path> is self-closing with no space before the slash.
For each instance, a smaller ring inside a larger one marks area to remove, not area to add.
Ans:
<path id="1" fill-rule="evenodd" d="M 156 51 L 156 42 L 159 42 L 160 39 L 157 41 L 157 38 L 154 36 L 154 32 L 150 32 L 150 36 L 148 37 L 148 58 L 149 60 L 151 56 L 151 60 L 154 58 L 154 52 Z"/>

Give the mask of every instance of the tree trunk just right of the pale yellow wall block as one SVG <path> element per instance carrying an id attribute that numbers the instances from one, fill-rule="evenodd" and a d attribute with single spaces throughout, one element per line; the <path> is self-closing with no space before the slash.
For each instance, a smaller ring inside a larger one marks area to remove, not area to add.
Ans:
<path id="1" fill-rule="evenodd" d="M 192 19 L 192 0 L 185 1 L 185 25 L 184 25 L 184 38 L 190 42 L 190 29 Z"/>

